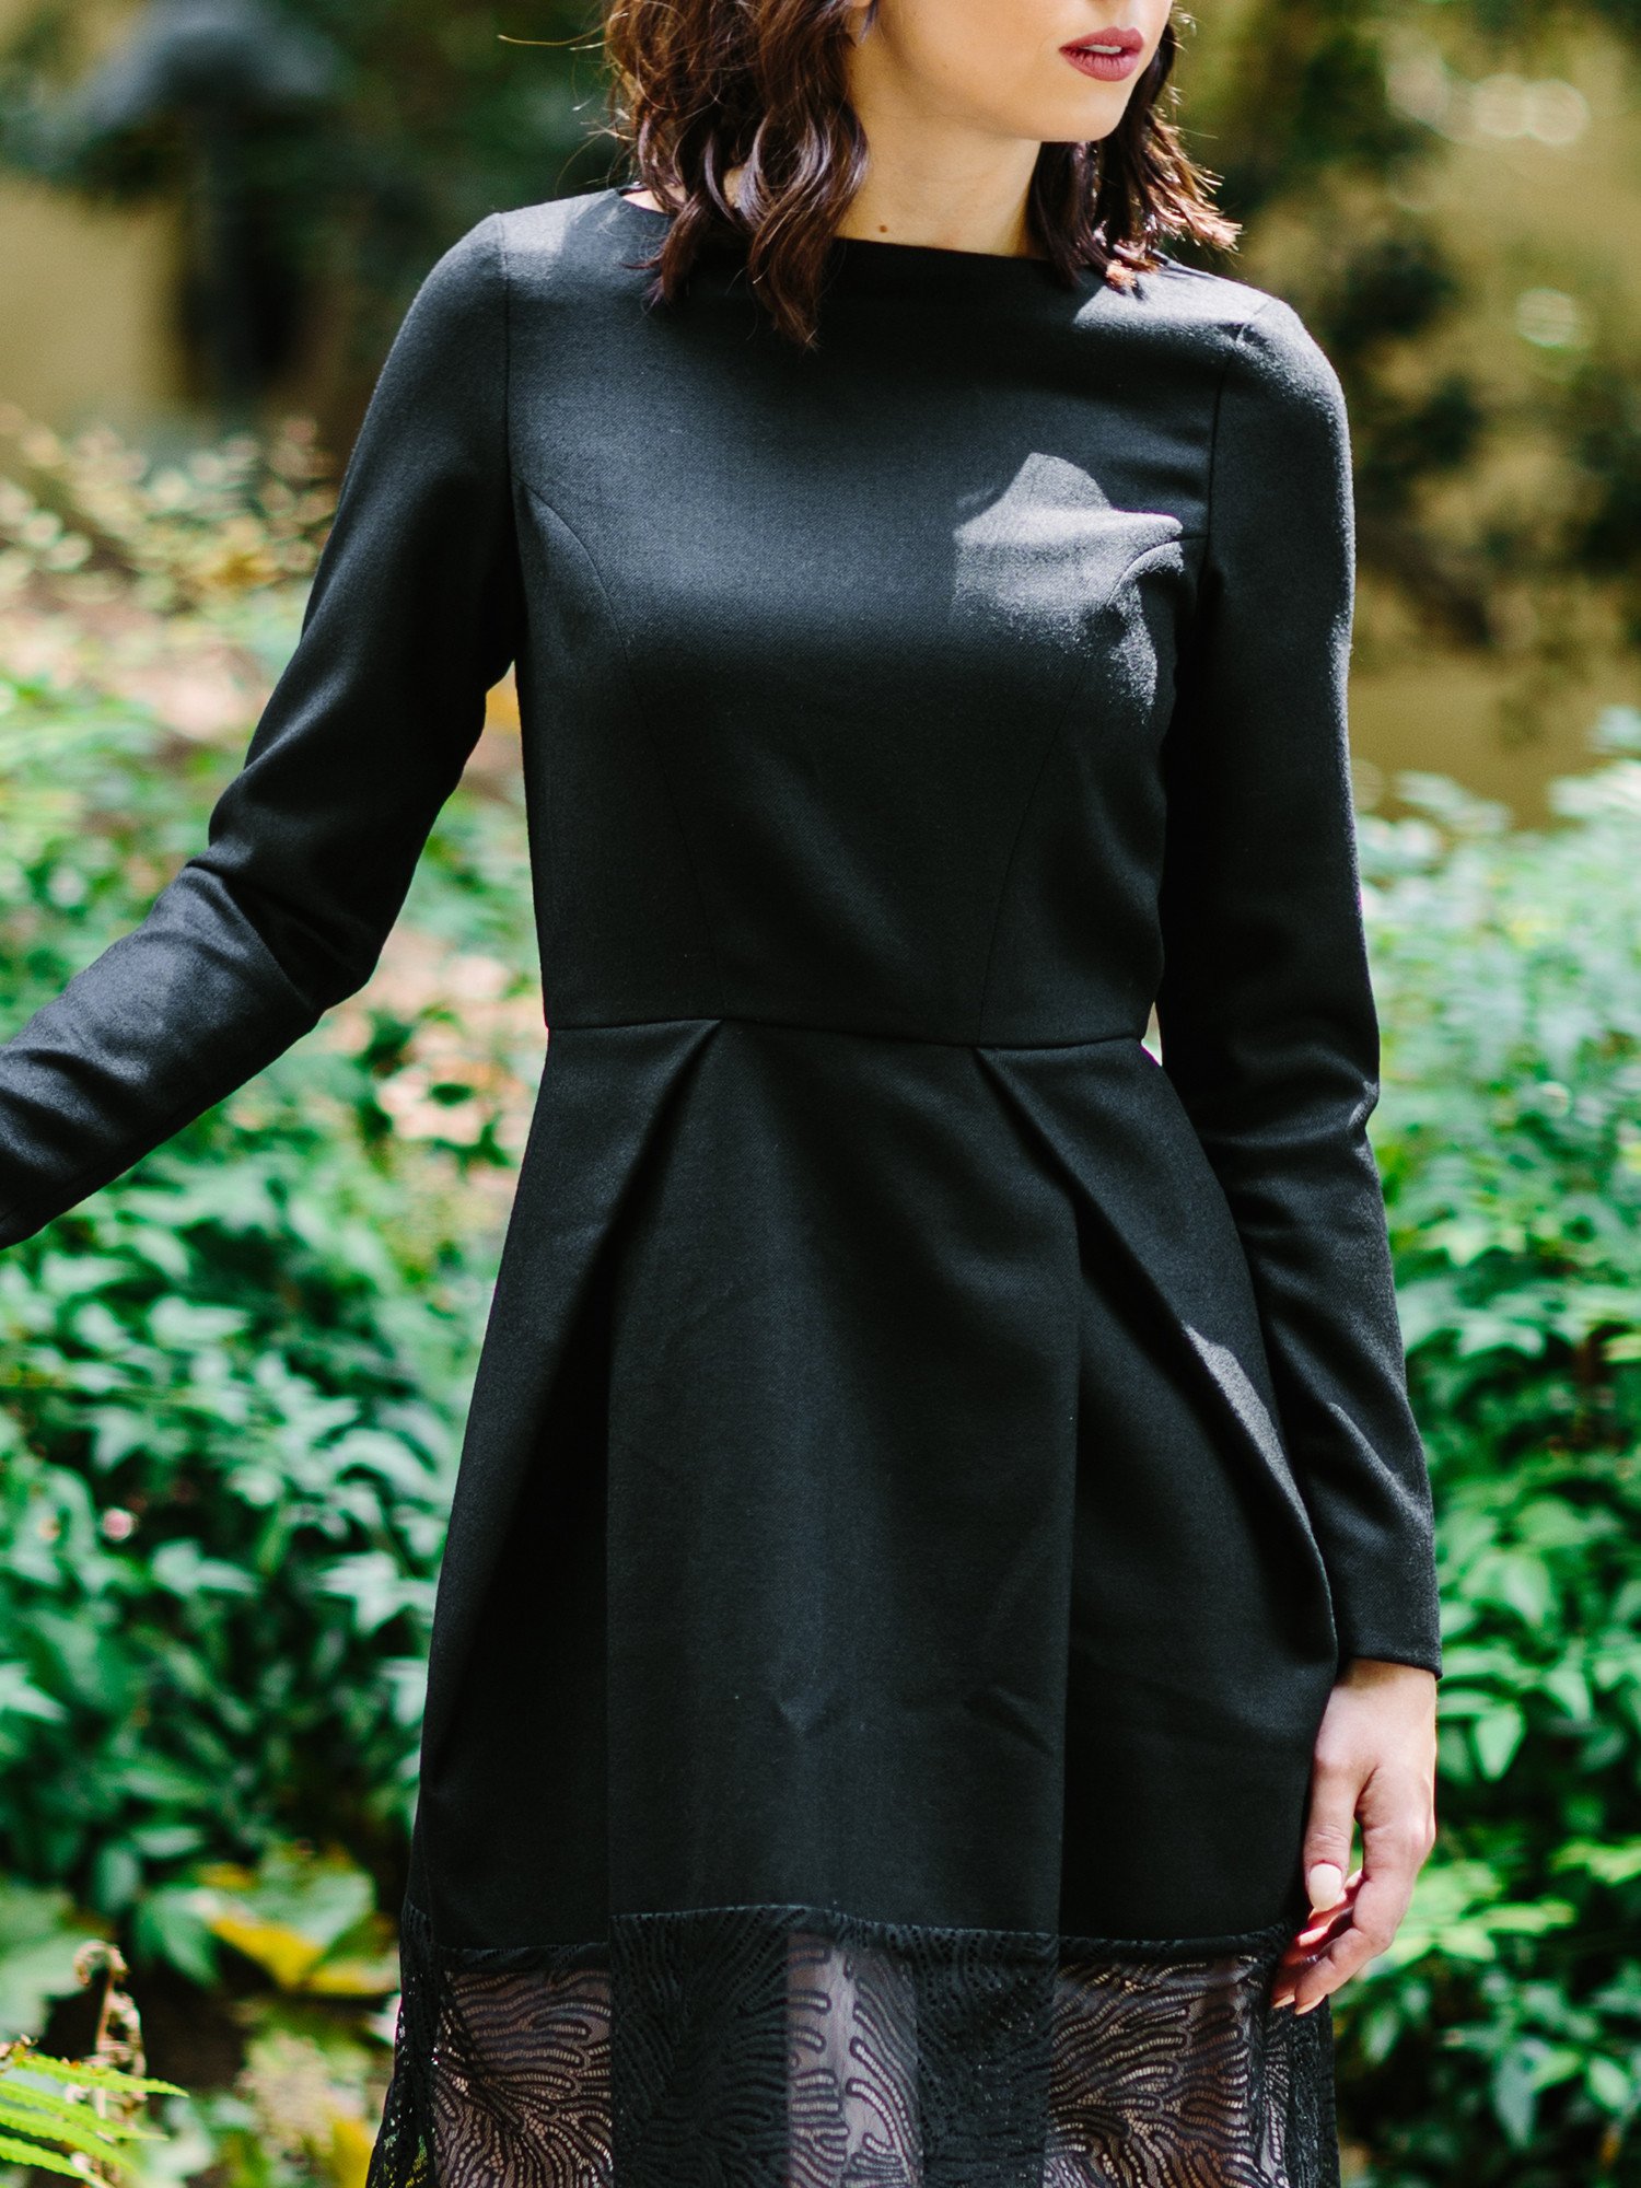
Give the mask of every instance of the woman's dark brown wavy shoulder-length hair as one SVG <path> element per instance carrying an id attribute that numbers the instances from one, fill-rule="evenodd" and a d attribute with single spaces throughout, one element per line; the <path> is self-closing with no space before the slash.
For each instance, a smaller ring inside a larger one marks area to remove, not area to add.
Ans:
<path id="1" fill-rule="evenodd" d="M 866 0 L 869 24 L 877 4 Z M 632 168 L 624 188 L 650 190 L 672 214 L 659 252 L 639 260 L 656 276 L 648 302 L 680 295 L 702 249 L 735 249 L 779 330 L 814 344 L 827 247 L 866 173 L 847 92 L 849 15 L 849 0 L 606 0 L 608 136 Z M 1212 203 L 1214 177 L 1173 123 L 1177 50 L 1171 22 L 1109 138 L 1037 155 L 1028 230 L 1066 287 L 1092 267 L 1125 289 L 1157 265 L 1164 241 L 1236 238 Z"/>

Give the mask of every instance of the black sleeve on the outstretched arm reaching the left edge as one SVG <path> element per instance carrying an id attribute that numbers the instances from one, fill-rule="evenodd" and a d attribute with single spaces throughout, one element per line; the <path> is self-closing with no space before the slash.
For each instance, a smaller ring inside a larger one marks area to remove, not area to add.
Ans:
<path id="1" fill-rule="evenodd" d="M 370 978 L 521 621 L 501 221 L 440 258 L 348 462 L 302 637 L 208 845 L 0 1048 L 0 1245 Z"/>

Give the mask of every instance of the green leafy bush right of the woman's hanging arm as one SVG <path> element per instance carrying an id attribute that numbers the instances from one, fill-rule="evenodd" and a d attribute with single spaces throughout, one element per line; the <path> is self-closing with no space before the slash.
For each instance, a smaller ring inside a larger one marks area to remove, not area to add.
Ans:
<path id="1" fill-rule="evenodd" d="M 1613 715 L 1604 742 L 1634 735 Z M 1363 816 L 1385 1173 L 1440 1512 L 1438 1853 L 1339 1995 L 1374 2188 L 1641 2166 L 1641 764 L 1512 831 Z"/>

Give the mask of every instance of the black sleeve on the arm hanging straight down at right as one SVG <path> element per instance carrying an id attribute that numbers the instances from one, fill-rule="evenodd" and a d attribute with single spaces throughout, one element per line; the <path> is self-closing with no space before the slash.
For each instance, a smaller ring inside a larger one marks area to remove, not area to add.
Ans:
<path id="1" fill-rule="evenodd" d="M 1230 1199 L 1341 1659 L 1440 1676 L 1431 1486 L 1368 1142 L 1343 396 L 1282 302 L 1234 339 L 1164 753 L 1162 1061 Z"/>

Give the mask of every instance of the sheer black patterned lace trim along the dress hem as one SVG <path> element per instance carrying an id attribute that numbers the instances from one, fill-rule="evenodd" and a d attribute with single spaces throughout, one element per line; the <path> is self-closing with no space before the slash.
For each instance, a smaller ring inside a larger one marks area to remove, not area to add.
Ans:
<path id="1" fill-rule="evenodd" d="M 405 1908 L 368 2188 L 1339 2188 L 1287 1925 L 928 1930 L 818 1908 L 435 1945 Z"/>

